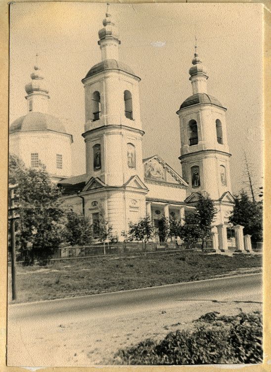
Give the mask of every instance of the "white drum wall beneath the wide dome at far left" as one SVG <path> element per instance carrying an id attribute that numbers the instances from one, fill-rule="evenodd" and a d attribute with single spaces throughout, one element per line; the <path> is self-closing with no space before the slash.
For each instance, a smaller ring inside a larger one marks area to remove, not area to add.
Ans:
<path id="1" fill-rule="evenodd" d="M 26 167 L 31 167 L 31 153 L 38 153 L 49 174 L 59 178 L 72 175 L 70 135 L 49 130 L 11 133 L 9 153 L 22 159 Z M 56 154 L 62 155 L 62 169 L 56 168 Z"/>

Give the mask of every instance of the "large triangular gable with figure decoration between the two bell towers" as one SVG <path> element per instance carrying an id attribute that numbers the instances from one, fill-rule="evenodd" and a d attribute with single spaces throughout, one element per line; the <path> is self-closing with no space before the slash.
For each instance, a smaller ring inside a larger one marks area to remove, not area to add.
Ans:
<path id="1" fill-rule="evenodd" d="M 188 186 L 183 178 L 158 155 L 143 159 L 143 165 L 146 181 Z"/>

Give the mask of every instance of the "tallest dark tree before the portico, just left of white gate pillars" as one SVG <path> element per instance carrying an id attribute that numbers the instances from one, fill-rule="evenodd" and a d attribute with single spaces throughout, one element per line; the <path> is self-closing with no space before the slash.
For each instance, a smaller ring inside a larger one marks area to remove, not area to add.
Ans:
<path id="1" fill-rule="evenodd" d="M 203 241 L 210 238 L 212 223 L 216 215 L 213 200 L 208 194 L 198 193 L 195 211 L 188 213 L 181 228 L 181 238 L 185 241 Z"/>

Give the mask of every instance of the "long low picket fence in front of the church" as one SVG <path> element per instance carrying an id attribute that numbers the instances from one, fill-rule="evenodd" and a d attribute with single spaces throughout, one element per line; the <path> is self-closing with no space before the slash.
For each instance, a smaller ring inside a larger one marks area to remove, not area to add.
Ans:
<path id="1" fill-rule="evenodd" d="M 50 265 L 57 262 L 83 261 L 93 257 L 107 256 L 136 256 L 147 254 L 168 254 L 181 252 L 213 252 L 212 241 L 186 242 L 178 244 L 170 243 L 141 243 L 120 242 L 101 243 L 88 246 L 69 246 L 43 251 L 25 250 L 19 252 L 16 257 L 16 265 Z M 8 262 L 10 263 L 10 262 Z"/>

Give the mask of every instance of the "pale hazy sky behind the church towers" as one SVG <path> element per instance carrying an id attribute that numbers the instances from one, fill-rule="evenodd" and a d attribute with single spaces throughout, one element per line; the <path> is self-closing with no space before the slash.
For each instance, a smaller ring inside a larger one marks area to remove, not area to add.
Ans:
<path id="1" fill-rule="evenodd" d="M 73 173 L 85 173 L 84 87 L 101 61 L 97 44 L 105 3 L 33 2 L 10 6 L 9 122 L 27 114 L 25 85 L 39 54 L 49 88 L 49 113 L 73 135 Z M 140 82 L 143 157 L 160 155 L 181 174 L 176 114 L 192 95 L 195 35 L 207 68 L 208 93 L 227 108 L 233 193 L 245 187 L 244 151 L 256 194 L 263 180 L 263 7 L 253 3 L 110 5 L 119 30 L 120 60 Z"/>

